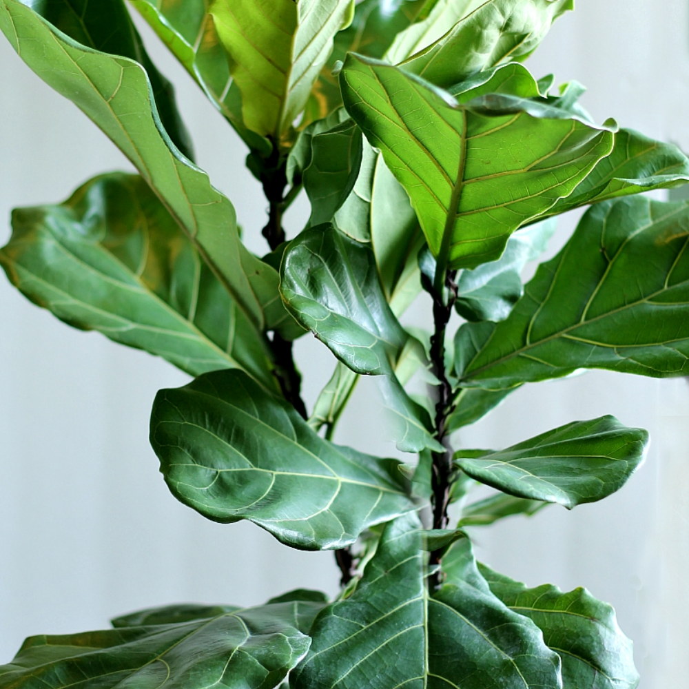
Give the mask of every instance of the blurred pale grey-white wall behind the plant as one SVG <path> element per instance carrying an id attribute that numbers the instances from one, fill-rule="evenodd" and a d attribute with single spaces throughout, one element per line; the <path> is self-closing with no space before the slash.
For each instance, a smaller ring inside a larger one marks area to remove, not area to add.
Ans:
<path id="1" fill-rule="evenodd" d="M 265 203 L 246 151 L 196 85 L 145 30 L 178 88 L 196 157 L 235 203 L 250 245 Z M 598 121 L 689 150 L 689 12 L 683 0 L 579 0 L 529 61 L 536 76 L 588 86 Z M 14 206 L 55 203 L 95 174 L 130 169 L 76 108 L 0 41 L 0 239 Z M 302 198 L 288 227 L 307 214 Z M 574 219 L 561 223 L 549 254 Z M 417 309 L 418 311 L 419 309 Z M 247 524 L 203 520 L 169 495 L 147 440 L 161 387 L 187 380 L 163 360 L 63 325 L 0 278 L 0 663 L 24 637 L 103 628 L 174 601 L 258 604 L 296 587 L 337 589 L 331 553 L 299 553 Z M 333 360 L 299 341 L 313 402 Z M 370 381 L 338 442 L 391 455 Z M 570 420 L 612 413 L 652 436 L 648 460 L 605 502 L 547 508 L 475 531 L 480 557 L 530 586 L 586 586 L 635 641 L 641 689 L 683 689 L 689 675 L 689 383 L 608 373 L 525 387 L 457 438 L 502 447 Z M 584 688 L 582 688 L 584 689 Z"/>

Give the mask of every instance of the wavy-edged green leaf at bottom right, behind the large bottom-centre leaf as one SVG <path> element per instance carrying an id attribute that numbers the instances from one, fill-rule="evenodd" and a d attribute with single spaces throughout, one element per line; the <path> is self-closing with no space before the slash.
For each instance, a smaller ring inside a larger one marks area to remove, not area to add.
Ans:
<path id="1" fill-rule="evenodd" d="M 533 619 L 546 644 L 562 658 L 563 689 L 634 689 L 639 673 L 632 642 L 617 626 L 615 610 L 577 588 L 562 593 L 544 584 L 526 588 L 480 565 L 491 591 L 520 615 Z"/>

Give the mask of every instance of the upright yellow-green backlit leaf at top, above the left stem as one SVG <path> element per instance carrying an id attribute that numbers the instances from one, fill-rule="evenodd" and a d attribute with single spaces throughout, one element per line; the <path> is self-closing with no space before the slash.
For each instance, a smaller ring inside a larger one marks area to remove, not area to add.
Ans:
<path id="1" fill-rule="evenodd" d="M 351 0 L 214 0 L 250 130 L 280 141 L 304 109 Z"/>

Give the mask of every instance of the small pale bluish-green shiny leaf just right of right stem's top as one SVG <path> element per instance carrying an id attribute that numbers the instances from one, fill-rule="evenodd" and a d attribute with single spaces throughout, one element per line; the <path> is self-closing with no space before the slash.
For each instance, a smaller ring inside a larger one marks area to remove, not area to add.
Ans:
<path id="1" fill-rule="evenodd" d="M 522 269 L 546 250 L 556 227 L 551 219 L 520 229 L 498 260 L 463 270 L 457 280 L 457 313 L 466 320 L 505 320 L 524 294 Z"/>

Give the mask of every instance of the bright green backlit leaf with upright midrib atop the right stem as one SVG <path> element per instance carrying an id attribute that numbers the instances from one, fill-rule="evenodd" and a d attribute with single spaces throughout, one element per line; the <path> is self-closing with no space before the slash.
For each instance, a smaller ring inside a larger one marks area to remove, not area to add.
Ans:
<path id="1" fill-rule="evenodd" d="M 353 55 L 340 83 L 349 114 L 407 190 L 439 274 L 500 258 L 515 229 L 573 192 L 613 147 L 612 131 L 540 103 L 521 65 L 459 100 Z"/>

